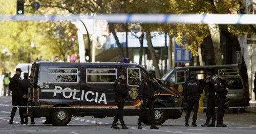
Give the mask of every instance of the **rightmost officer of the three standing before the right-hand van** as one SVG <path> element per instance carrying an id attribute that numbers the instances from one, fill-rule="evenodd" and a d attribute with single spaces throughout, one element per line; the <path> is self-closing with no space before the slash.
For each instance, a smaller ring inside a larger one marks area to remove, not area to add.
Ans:
<path id="1" fill-rule="evenodd" d="M 223 117 L 225 114 L 224 103 L 226 102 L 226 96 L 229 91 L 227 88 L 227 83 L 225 79 L 225 73 L 221 72 L 219 74 L 219 78 L 215 81 L 215 88 L 217 93 L 217 101 L 218 101 L 218 112 L 217 112 L 217 127 L 227 127 L 227 125 L 223 124 Z"/>

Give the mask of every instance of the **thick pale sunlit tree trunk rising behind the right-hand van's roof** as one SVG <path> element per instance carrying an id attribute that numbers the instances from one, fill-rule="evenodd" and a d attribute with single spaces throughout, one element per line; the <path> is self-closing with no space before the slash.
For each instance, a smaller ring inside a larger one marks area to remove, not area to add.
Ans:
<path id="1" fill-rule="evenodd" d="M 214 46 L 215 63 L 219 65 L 223 63 L 222 56 L 221 56 L 220 29 L 219 29 L 219 26 L 216 24 L 209 24 L 208 27 L 210 30 L 212 45 Z"/>

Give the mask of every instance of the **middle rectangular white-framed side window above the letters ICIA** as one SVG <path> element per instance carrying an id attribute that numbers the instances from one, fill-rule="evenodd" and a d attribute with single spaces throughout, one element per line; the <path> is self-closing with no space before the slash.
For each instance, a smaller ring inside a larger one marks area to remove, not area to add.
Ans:
<path id="1" fill-rule="evenodd" d="M 86 83 L 114 83 L 116 69 L 86 69 Z"/>

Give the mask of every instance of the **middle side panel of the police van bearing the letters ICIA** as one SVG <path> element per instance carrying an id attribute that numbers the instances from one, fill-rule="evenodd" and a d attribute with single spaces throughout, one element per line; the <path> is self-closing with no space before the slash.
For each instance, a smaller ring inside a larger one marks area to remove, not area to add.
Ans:
<path id="1" fill-rule="evenodd" d="M 82 66 L 81 106 L 115 107 L 113 83 L 117 79 L 118 66 Z M 95 112 L 97 111 L 97 112 Z M 82 109 L 84 115 L 108 116 L 114 109 Z"/>

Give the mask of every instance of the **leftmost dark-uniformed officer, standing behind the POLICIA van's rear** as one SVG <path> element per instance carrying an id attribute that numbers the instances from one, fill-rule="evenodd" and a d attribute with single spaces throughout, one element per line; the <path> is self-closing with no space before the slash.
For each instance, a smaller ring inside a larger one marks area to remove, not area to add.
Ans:
<path id="1" fill-rule="evenodd" d="M 17 106 L 17 105 L 22 105 L 22 91 L 19 88 L 19 83 L 20 83 L 20 74 L 22 73 L 21 69 L 16 69 L 16 73 L 14 76 L 11 78 L 10 84 L 9 84 L 9 89 L 12 91 L 12 105 Z M 13 123 L 13 118 L 15 116 L 17 107 L 12 107 L 12 112 L 11 112 L 11 119 L 9 121 L 9 124 Z M 24 117 L 22 113 L 22 109 L 19 109 L 19 116 L 20 116 L 20 123 L 24 123 Z"/>

